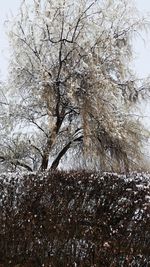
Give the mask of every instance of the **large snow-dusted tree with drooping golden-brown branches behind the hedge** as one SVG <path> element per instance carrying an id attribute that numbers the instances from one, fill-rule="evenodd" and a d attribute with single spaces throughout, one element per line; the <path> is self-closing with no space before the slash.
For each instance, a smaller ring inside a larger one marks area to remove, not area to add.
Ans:
<path id="1" fill-rule="evenodd" d="M 14 129 L 25 127 L 23 164 L 55 169 L 73 155 L 105 170 L 139 163 L 145 137 L 129 114 L 144 89 L 129 62 L 145 26 L 127 0 L 23 1 L 9 31 L 10 115 Z"/>

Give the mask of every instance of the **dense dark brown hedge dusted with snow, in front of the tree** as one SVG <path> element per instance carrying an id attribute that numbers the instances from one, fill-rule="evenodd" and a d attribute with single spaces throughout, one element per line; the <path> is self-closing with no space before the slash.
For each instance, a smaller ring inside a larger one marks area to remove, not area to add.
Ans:
<path id="1" fill-rule="evenodd" d="M 1 176 L 0 266 L 150 266 L 148 175 Z"/>

